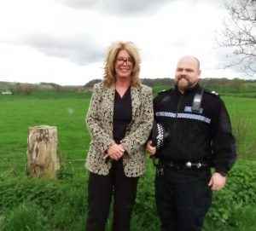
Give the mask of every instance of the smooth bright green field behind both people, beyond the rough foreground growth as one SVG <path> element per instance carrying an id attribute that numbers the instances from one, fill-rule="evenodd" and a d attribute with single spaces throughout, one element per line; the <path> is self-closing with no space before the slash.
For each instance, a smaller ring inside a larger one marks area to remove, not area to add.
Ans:
<path id="1" fill-rule="evenodd" d="M 242 156 L 255 158 L 256 99 L 223 97 L 234 124 L 246 124 Z M 84 116 L 88 94 L 0 95 L 0 172 L 26 167 L 26 138 L 31 126 L 57 126 L 58 149 L 67 168 L 84 171 L 90 136 Z M 237 122 L 238 121 L 238 122 Z"/>

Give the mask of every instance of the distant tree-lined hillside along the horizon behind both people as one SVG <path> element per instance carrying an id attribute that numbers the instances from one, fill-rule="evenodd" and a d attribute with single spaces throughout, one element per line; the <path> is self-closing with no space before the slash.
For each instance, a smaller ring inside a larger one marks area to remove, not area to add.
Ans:
<path id="1" fill-rule="evenodd" d="M 84 92 L 91 90 L 93 85 L 100 81 L 102 80 L 94 79 L 80 86 L 62 86 L 54 83 L 27 84 L 0 81 L 0 92 L 10 92 L 14 95 L 31 95 L 44 92 Z M 224 95 L 243 94 L 250 97 L 256 96 L 256 80 L 254 79 L 201 78 L 200 81 L 204 88 L 215 90 Z M 173 78 L 142 78 L 142 84 L 152 87 L 154 93 L 156 93 L 160 90 L 172 88 Z"/>

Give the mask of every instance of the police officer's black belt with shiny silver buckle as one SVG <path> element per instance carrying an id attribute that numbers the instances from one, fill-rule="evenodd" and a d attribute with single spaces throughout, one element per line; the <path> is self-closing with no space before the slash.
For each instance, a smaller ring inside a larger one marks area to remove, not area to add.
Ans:
<path id="1" fill-rule="evenodd" d="M 176 163 L 172 161 L 160 161 L 159 165 L 165 165 L 167 167 L 170 167 L 172 169 L 202 169 L 202 168 L 207 168 L 210 167 L 207 163 L 201 163 L 201 162 L 185 162 L 185 163 Z"/>

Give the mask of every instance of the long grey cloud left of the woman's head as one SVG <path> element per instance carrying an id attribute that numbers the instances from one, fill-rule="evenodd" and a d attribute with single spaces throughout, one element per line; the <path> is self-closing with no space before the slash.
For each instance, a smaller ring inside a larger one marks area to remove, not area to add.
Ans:
<path id="1" fill-rule="evenodd" d="M 21 44 L 37 49 L 44 55 L 65 58 L 79 65 L 103 61 L 105 49 L 89 35 L 49 36 L 30 35 L 20 39 Z"/>

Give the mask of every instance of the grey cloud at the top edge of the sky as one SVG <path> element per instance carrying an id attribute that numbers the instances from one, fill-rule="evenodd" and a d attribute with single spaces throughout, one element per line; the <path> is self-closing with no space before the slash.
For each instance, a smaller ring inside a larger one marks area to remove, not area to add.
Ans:
<path id="1" fill-rule="evenodd" d="M 94 9 L 102 14 L 143 14 L 154 13 L 166 3 L 177 0 L 55 0 L 76 9 Z"/>

